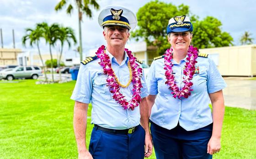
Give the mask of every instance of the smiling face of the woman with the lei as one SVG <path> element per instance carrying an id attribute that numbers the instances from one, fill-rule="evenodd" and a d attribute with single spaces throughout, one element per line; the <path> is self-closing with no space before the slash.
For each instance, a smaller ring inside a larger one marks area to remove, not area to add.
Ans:
<path id="1" fill-rule="evenodd" d="M 174 51 L 187 51 L 192 40 L 192 33 L 185 32 L 171 32 L 168 35 L 168 41 Z"/>

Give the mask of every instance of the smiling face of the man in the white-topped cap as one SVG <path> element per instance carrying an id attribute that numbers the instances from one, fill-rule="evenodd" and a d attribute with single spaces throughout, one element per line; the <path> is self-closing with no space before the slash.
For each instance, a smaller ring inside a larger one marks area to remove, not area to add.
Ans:
<path id="1" fill-rule="evenodd" d="M 130 33 L 123 26 L 105 26 L 103 36 L 107 41 L 107 47 L 124 47 L 129 39 Z"/>

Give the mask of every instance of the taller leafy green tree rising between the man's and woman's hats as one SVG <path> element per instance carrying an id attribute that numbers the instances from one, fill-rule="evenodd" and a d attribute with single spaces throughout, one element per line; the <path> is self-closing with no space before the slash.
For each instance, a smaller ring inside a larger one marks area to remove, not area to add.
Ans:
<path id="1" fill-rule="evenodd" d="M 167 40 L 166 27 L 171 17 L 175 15 L 188 15 L 187 5 L 176 7 L 171 3 L 151 1 L 141 7 L 137 12 L 139 29 L 132 33 L 136 40 L 142 38 L 148 46 L 157 46 L 158 53 L 164 53 L 170 47 Z"/>

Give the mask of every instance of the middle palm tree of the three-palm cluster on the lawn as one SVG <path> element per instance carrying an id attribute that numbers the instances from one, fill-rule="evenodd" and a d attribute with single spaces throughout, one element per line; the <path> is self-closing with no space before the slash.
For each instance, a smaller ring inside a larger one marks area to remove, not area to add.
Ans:
<path id="1" fill-rule="evenodd" d="M 52 54 L 52 46 L 55 45 L 56 41 L 59 39 L 59 30 L 60 26 L 57 23 L 53 23 L 51 26 L 48 26 L 46 22 L 39 23 L 38 27 L 43 30 L 43 37 L 46 43 L 49 44 L 50 56 L 51 56 L 51 72 L 52 72 L 52 80 L 53 78 L 53 54 Z"/>

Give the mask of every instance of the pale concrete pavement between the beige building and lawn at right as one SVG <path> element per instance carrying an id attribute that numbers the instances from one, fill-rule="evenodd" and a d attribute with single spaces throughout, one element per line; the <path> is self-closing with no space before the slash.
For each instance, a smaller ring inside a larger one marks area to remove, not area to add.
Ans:
<path id="1" fill-rule="evenodd" d="M 256 80 L 250 77 L 224 77 L 228 87 L 223 90 L 225 105 L 256 109 Z"/>

